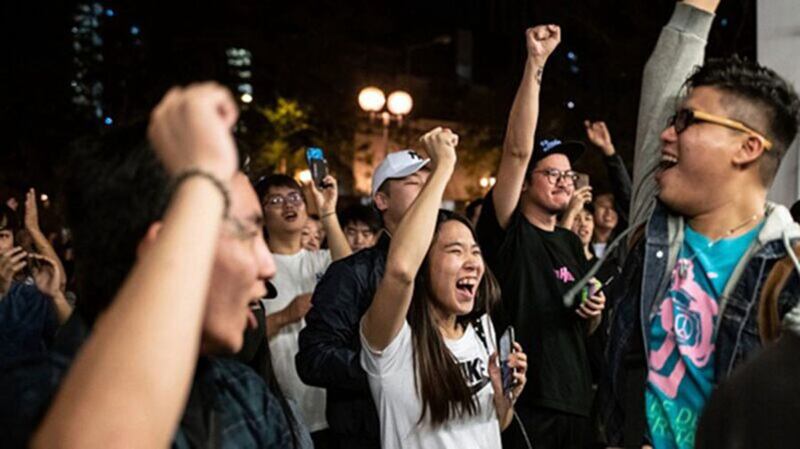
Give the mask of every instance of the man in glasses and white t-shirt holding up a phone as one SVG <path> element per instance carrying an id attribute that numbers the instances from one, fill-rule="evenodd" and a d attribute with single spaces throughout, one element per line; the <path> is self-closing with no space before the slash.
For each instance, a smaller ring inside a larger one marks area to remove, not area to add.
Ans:
<path id="1" fill-rule="evenodd" d="M 300 408 L 315 445 L 324 447 L 328 424 L 325 420 L 325 390 L 305 385 L 297 375 L 294 357 L 297 336 L 311 308 L 311 294 L 332 261 L 350 254 L 336 216 L 337 186 L 332 176 L 318 188 L 309 188 L 328 235 L 330 250 L 309 251 L 302 246 L 303 228 L 309 220 L 300 185 L 289 176 L 272 175 L 256 186 L 264 208 L 267 242 L 275 258 L 272 284 L 277 297 L 264 302 L 267 336 L 275 377 L 286 396 Z"/>

